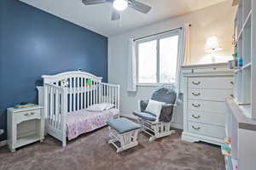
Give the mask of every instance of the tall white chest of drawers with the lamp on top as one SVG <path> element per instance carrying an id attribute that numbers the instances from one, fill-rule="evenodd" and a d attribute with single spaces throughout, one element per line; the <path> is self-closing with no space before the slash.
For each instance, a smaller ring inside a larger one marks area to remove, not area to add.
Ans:
<path id="1" fill-rule="evenodd" d="M 226 63 L 183 66 L 183 140 L 223 144 L 233 85 Z"/>

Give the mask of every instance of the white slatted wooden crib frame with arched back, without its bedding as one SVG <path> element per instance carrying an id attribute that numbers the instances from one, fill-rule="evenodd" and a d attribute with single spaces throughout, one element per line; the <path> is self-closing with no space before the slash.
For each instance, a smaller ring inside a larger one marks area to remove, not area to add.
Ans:
<path id="1" fill-rule="evenodd" d="M 67 144 L 67 113 L 102 102 L 119 109 L 119 85 L 103 83 L 83 71 L 68 71 L 42 76 L 44 87 L 38 87 L 38 104 L 44 106 L 46 133 Z"/>

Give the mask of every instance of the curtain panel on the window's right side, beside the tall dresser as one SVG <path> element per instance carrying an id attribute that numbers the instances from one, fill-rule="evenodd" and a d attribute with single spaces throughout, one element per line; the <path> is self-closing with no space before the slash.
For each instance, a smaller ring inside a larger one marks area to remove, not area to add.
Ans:
<path id="1" fill-rule="evenodd" d="M 190 26 L 185 24 L 180 32 L 179 49 L 177 56 L 176 84 L 177 94 L 182 92 L 182 65 L 188 65 L 190 60 Z"/>

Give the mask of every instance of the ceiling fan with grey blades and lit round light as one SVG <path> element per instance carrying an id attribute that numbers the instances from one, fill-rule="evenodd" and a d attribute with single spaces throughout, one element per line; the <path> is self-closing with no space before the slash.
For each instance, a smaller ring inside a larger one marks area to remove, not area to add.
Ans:
<path id="1" fill-rule="evenodd" d="M 100 3 L 112 3 L 113 4 L 113 13 L 111 20 L 120 20 L 120 12 L 125 10 L 127 7 L 134 8 L 135 10 L 147 14 L 151 7 L 144 3 L 140 3 L 137 0 L 82 0 L 84 5 L 96 5 Z"/>

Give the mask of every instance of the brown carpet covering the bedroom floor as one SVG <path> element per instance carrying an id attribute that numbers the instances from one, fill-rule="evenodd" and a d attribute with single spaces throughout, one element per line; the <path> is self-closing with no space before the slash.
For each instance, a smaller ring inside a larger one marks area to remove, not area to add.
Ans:
<path id="1" fill-rule="evenodd" d="M 10 153 L 0 148 L 1 170 L 224 170 L 224 157 L 217 146 L 190 144 L 180 139 L 181 131 L 170 137 L 140 144 L 119 154 L 107 144 L 108 128 L 87 133 L 68 142 L 66 148 L 52 137 Z"/>

